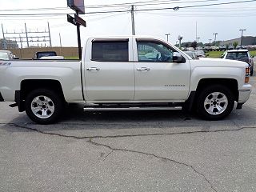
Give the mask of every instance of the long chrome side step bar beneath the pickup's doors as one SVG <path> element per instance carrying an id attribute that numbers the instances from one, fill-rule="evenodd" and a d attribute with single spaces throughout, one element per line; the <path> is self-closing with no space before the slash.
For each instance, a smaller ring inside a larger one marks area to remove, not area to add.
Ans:
<path id="1" fill-rule="evenodd" d="M 84 111 L 97 111 L 97 110 L 182 110 L 182 106 L 130 106 L 130 107 L 84 107 Z"/>

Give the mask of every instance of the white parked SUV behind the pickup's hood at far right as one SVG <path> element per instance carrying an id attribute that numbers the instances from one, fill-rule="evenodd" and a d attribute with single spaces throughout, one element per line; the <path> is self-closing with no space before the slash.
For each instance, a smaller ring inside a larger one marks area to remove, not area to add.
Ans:
<path id="1" fill-rule="evenodd" d="M 254 74 L 254 60 L 248 50 L 227 50 L 222 54 L 222 58 L 247 62 L 250 65 L 250 75 Z"/>

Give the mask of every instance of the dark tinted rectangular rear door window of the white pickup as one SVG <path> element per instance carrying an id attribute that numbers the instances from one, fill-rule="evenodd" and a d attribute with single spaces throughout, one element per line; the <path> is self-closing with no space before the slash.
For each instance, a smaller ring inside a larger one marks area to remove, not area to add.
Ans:
<path id="1" fill-rule="evenodd" d="M 128 40 L 93 42 L 91 60 L 97 62 L 128 62 Z"/>

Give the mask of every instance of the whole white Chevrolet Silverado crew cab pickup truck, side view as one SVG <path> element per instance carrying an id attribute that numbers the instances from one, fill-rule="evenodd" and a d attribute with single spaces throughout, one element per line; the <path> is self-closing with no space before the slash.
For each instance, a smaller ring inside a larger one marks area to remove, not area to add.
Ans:
<path id="1" fill-rule="evenodd" d="M 186 109 L 218 120 L 248 100 L 249 78 L 246 62 L 192 59 L 158 38 L 88 38 L 82 61 L 0 62 L 0 101 L 41 124 L 77 102 L 85 110 Z"/>

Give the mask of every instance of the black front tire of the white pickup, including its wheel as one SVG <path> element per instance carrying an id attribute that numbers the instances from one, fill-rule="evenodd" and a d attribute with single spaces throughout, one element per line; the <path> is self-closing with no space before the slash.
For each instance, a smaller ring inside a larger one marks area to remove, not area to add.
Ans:
<path id="1" fill-rule="evenodd" d="M 204 119 L 214 121 L 225 118 L 233 107 L 234 94 L 226 86 L 209 86 L 198 95 L 197 110 Z"/>

